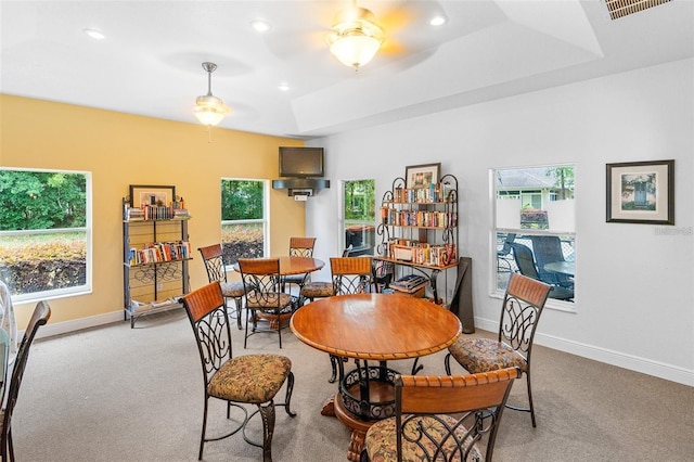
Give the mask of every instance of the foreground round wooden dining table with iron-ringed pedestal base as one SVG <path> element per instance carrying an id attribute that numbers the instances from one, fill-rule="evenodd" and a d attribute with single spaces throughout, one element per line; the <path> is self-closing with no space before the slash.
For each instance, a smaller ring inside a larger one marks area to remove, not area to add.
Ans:
<path id="1" fill-rule="evenodd" d="M 452 345 L 461 322 L 448 309 L 399 294 L 338 295 L 299 308 L 290 322 L 305 344 L 352 358 L 356 369 L 339 368 L 338 392 L 324 408 L 351 429 L 347 459 L 358 461 L 369 427 L 395 413 L 394 380 L 386 361 L 415 359 Z M 378 365 L 369 365 L 376 361 Z M 414 368 L 413 368 L 414 372 Z"/>

